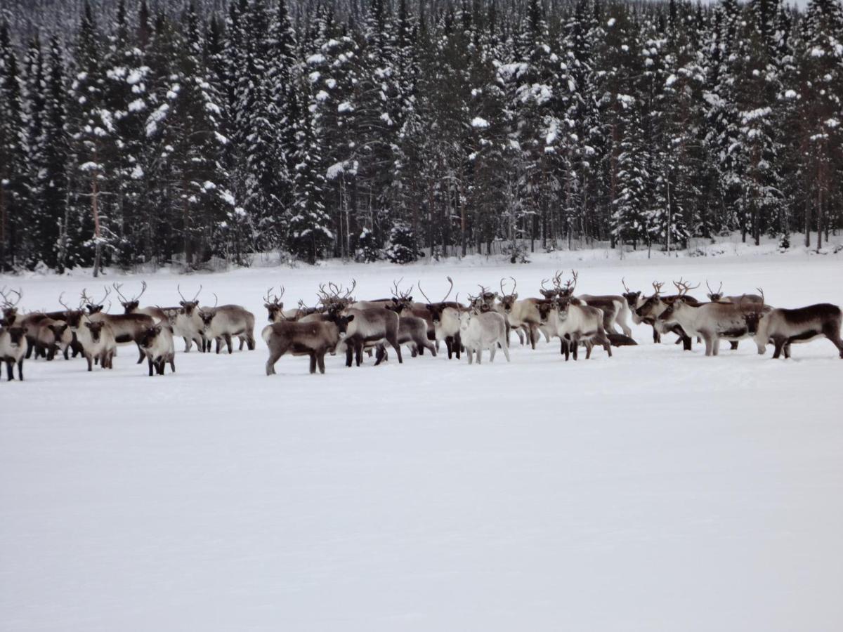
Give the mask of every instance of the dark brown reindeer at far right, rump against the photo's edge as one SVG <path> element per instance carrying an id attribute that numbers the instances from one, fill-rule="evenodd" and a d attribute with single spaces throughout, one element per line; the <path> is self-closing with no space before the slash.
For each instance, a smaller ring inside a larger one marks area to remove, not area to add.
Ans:
<path id="1" fill-rule="evenodd" d="M 761 296 L 764 296 L 764 292 L 761 292 Z M 754 333 L 754 342 L 761 356 L 765 354 L 768 342 L 774 345 L 774 359 L 779 358 L 782 351 L 789 358 L 791 345 L 825 337 L 834 343 L 843 358 L 841 315 L 836 305 L 817 303 L 805 308 L 771 309 L 768 313 L 754 309 L 744 313 L 744 317 L 748 329 Z"/>

